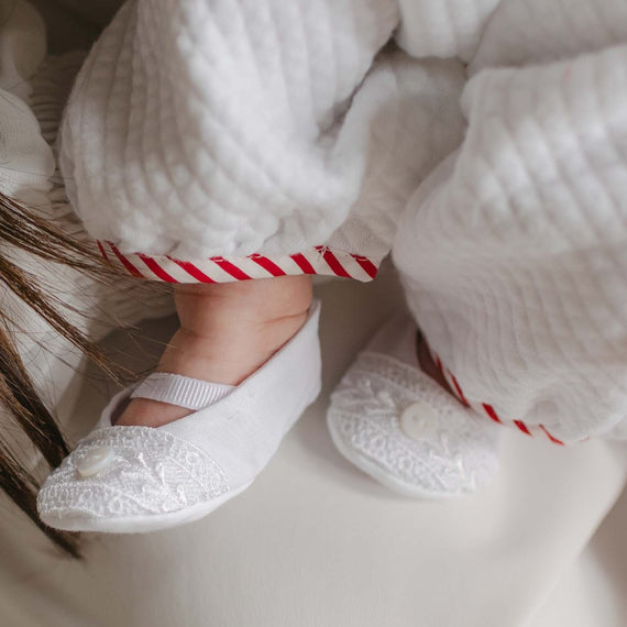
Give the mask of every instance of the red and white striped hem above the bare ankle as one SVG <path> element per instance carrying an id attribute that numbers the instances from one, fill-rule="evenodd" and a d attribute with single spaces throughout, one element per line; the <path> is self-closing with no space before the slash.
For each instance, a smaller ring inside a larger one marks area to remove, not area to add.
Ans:
<path id="1" fill-rule="evenodd" d="M 316 246 L 293 255 L 220 256 L 194 262 L 167 255 L 122 253 L 112 242 L 98 241 L 98 249 L 109 262 L 129 274 L 166 283 L 230 283 L 250 278 L 271 278 L 298 274 L 320 274 L 372 280 L 381 260 Z"/>

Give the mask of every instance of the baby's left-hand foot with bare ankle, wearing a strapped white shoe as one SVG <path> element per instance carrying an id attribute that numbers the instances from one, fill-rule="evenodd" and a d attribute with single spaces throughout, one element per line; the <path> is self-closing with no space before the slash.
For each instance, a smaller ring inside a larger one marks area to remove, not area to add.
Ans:
<path id="1" fill-rule="evenodd" d="M 318 396 L 321 360 L 309 280 L 250 283 L 262 285 L 178 290 L 182 328 L 161 362 L 176 374 L 155 373 L 111 400 L 44 482 L 46 525 L 165 529 L 252 484 Z M 227 395 L 216 400 L 223 385 L 209 378 L 226 382 Z"/>

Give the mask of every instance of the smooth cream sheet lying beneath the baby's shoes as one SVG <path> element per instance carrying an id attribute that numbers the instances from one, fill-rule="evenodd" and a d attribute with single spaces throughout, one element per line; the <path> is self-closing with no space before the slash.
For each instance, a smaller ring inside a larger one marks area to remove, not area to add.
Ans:
<path id="1" fill-rule="evenodd" d="M 394 496 L 339 457 L 323 410 L 355 350 L 398 304 L 396 285 L 386 274 L 319 294 L 326 392 L 252 488 L 188 527 L 86 538 L 81 564 L 2 508 L 0 624 L 625 626 L 625 498 L 586 549 L 625 483 L 625 449 L 561 450 L 507 431 L 503 471 L 484 494 L 448 504 Z M 359 324 L 341 324 L 346 317 Z M 166 337 L 166 323 L 152 324 Z M 85 382 L 66 415 L 75 436 L 103 404 L 99 387 Z"/>

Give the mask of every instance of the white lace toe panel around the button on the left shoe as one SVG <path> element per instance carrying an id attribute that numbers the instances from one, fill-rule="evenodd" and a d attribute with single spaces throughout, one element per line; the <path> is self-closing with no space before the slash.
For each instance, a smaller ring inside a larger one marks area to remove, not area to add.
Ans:
<path id="1" fill-rule="evenodd" d="M 111 464 L 82 477 L 77 463 L 110 447 Z M 122 517 L 165 514 L 217 498 L 230 490 L 224 471 L 205 451 L 167 431 L 106 427 L 81 440 L 42 487 L 43 516 Z"/>

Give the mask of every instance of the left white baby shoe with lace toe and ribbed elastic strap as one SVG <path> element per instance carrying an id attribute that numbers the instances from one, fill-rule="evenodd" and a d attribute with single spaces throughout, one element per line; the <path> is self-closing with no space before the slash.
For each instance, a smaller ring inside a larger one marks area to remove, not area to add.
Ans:
<path id="1" fill-rule="evenodd" d="M 42 520 L 70 531 L 153 531 L 201 518 L 240 494 L 319 394 L 319 317 L 316 301 L 298 333 L 235 387 L 155 373 L 118 394 L 44 482 Z M 114 426 L 131 397 L 195 413 L 155 429 Z"/>

